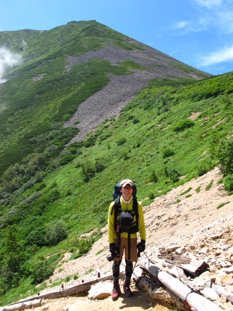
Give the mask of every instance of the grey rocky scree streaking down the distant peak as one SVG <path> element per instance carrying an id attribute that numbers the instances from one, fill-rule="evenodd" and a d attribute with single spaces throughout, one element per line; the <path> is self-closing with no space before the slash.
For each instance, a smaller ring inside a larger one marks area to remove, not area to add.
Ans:
<path id="1" fill-rule="evenodd" d="M 78 107 L 74 116 L 65 126 L 77 126 L 80 132 L 70 141 L 70 143 L 82 140 L 86 133 L 102 123 L 106 118 L 117 116 L 120 110 L 136 97 L 136 92 L 148 86 L 152 79 L 187 78 L 199 80 L 210 76 L 208 73 L 193 69 L 168 55 L 159 52 L 138 41 L 130 41 L 143 50 L 124 50 L 120 47 L 110 45 L 98 51 L 89 51 L 83 55 L 67 58 L 68 65 L 66 71 L 72 66 L 93 60 L 94 58 L 108 60 L 111 65 L 119 66 L 126 60 L 144 67 L 145 69 L 133 69 L 132 74 L 113 75 L 108 74 L 110 82 L 100 91 L 89 97 Z M 80 121 L 74 125 L 74 121 Z"/>

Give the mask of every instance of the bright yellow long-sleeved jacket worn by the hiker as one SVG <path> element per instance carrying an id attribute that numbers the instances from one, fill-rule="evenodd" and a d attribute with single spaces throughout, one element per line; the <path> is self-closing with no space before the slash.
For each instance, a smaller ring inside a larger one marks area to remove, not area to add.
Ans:
<path id="1" fill-rule="evenodd" d="M 121 203 L 121 211 L 122 210 L 133 210 L 133 199 L 130 203 L 126 204 L 120 197 L 120 203 Z M 108 211 L 108 242 L 113 243 L 114 239 L 116 239 L 116 232 L 114 229 L 114 210 L 111 215 L 112 208 L 114 206 L 114 201 L 110 204 L 109 211 Z M 143 209 L 142 205 L 137 202 L 138 207 L 138 229 L 139 229 L 139 235 L 141 240 L 146 240 L 146 228 L 145 228 L 145 222 L 144 222 L 144 216 L 143 216 Z M 119 215 L 117 219 L 119 218 Z M 134 221 L 136 221 L 136 217 L 134 216 Z M 128 233 L 122 232 L 120 234 L 120 237 L 128 238 Z M 136 238 L 137 233 L 132 233 L 130 235 L 131 238 Z"/>

